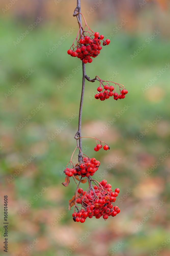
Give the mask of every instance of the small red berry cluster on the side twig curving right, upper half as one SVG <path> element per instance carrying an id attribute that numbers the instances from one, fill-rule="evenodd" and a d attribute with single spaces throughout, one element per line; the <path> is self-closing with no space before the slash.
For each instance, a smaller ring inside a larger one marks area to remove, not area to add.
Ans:
<path id="1" fill-rule="evenodd" d="M 105 85 L 103 89 L 100 86 L 100 87 L 97 88 L 97 91 L 99 93 L 97 93 L 95 95 L 95 99 L 97 99 L 97 100 L 100 99 L 101 101 L 109 99 L 112 96 L 113 96 L 114 100 L 124 99 L 125 95 L 128 92 L 127 90 L 123 89 L 121 91 L 121 94 L 118 95 L 117 92 L 113 92 L 114 91 L 114 86 L 112 86 L 112 85 L 111 86 Z"/>

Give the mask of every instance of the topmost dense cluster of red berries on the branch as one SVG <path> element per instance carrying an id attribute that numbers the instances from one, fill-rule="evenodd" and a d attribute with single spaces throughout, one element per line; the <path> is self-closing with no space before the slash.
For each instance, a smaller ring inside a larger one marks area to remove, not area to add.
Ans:
<path id="1" fill-rule="evenodd" d="M 96 58 L 101 47 L 101 42 L 104 38 L 103 35 L 100 36 L 98 32 L 94 33 L 94 38 L 92 35 L 89 36 L 82 36 L 83 38 L 80 39 L 80 41 L 77 41 L 77 46 L 73 48 L 73 50 L 69 49 L 67 53 L 71 55 L 72 57 L 77 57 L 83 61 L 83 63 L 91 63 L 93 60 L 90 57 Z M 103 41 L 103 45 L 108 45 L 110 43 L 109 39 L 106 39 L 106 41 Z M 72 46 L 73 47 L 73 46 Z"/>

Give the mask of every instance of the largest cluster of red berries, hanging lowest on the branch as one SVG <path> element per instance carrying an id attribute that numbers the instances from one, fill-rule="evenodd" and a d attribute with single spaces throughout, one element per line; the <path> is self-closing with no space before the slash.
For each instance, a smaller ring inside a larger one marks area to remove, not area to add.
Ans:
<path id="1" fill-rule="evenodd" d="M 116 197 L 119 194 L 119 188 L 116 188 L 115 191 L 112 192 L 112 186 L 107 184 L 107 180 L 102 180 L 100 184 L 101 187 L 94 186 L 95 194 L 99 199 L 95 198 L 93 190 L 87 193 L 87 191 L 83 191 L 82 188 L 78 189 L 80 197 L 77 198 L 76 202 L 77 204 L 81 204 L 84 209 L 72 214 L 74 221 L 83 223 L 87 217 L 91 219 L 93 216 L 95 216 L 96 219 L 103 216 L 103 219 L 107 220 L 109 216 L 114 217 L 120 212 L 118 206 L 113 207 L 112 205 L 112 202 L 116 201 Z"/>

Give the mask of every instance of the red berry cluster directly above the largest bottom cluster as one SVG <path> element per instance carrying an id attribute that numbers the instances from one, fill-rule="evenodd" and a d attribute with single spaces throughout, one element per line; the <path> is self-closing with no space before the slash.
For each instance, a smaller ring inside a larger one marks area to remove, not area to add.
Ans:
<path id="1" fill-rule="evenodd" d="M 82 177 L 93 176 L 100 166 L 100 162 L 96 158 L 83 157 L 84 163 L 77 165 L 75 168 L 66 168 L 64 173 L 69 177 L 73 175 L 81 175 Z"/>

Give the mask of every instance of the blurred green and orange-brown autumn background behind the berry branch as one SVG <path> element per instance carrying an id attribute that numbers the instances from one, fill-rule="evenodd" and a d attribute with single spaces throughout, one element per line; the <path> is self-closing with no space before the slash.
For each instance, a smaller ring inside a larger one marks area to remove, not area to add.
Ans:
<path id="1" fill-rule="evenodd" d="M 82 83 L 80 60 L 67 54 L 77 34 L 75 7 L 73 0 L 0 2 L 1 255 L 8 195 L 10 256 L 168 256 L 169 1 L 82 0 L 89 27 L 111 40 L 87 75 L 128 90 L 123 100 L 101 102 L 98 82 L 86 81 L 82 134 L 110 151 L 94 152 L 92 139 L 83 139 L 83 150 L 101 162 L 96 178 L 120 188 L 121 212 L 84 224 L 68 211 L 75 183 L 61 185 L 76 146 Z"/>

